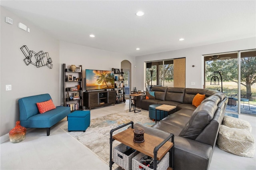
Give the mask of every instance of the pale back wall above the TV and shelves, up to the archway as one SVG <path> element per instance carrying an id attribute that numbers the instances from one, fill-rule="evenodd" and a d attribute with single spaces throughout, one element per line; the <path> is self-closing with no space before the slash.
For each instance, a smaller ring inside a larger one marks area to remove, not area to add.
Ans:
<path id="1" fill-rule="evenodd" d="M 60 63 L 65 63 L 66 67 L 70 67 L 72 64 L 76 66 L 82 65 L 84 78 L 85 69 L 112 70 L 112 68 L 121 68 L 121 62 L 123 60 L 128 60 L 134 65 L 134 59 L 135 57 L 129 57 L 120 53 L 104 51 L 68 42 L 60 42 Z M 134 75 L 133 72 L 134 70 L 132 70 L 132 75 Z M 63 80 L 62 76 L 60 79 Z M 63 87 L 61 85 L 61 94 L 62 89 Z M 85 91 L 85 88 L 83 88 L 83 91 Z M 63 97 L 63 95 L 61 96 Z"/>

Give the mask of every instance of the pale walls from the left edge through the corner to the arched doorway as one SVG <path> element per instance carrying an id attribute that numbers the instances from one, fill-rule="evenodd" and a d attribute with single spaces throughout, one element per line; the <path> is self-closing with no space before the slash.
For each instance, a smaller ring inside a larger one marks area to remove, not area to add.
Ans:
<path id="1" fill-rule="evenodd" d="M 67 66 L 82 65 L 83 74 L 85 69 L 120 68 L 123 60 L 128 60 L 134 65 L 135 57 L 59 42 L 2 6 L 0 13 L 0 142 L 8 139 L 9 131 L 19 120 L 18 99 L 49 93 L 56 106 L 63 104 L 62 63 Z M 12 25 L 5 23 L 6 16 L 12 18 Z M 18 28 L 18 22 L 28 26 L 30 33 Z M 53 61 L 53 68 L 26 65 L 23 61 L 25 56 L 20 50 L 23 45 L 36 52 L 48 52 Z M 5 85 L 12 85 L 12 91 L 6 91 Z"/>

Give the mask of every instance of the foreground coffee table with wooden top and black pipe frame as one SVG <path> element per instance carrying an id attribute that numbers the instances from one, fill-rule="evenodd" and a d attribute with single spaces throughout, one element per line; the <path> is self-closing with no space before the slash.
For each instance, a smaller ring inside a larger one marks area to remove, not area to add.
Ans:
<path id="1" fill-rule="evenodd" d="M 122 132 L 119 132 L 118 134 L 115 134 L 112 137 L 112 133 L 115 130 L 118 130 L 130 124 L 132 124 L 132 128 L 128 128 Z M 156 170 L 156 167 L 157 167 L 157 160 L 161 160 L 164 157 L 164 155 L 171 149 L 170 156 L 171 156 L 172 168 L 169 167 L 168 170 L 172 170 L 173 158 L 174 158 L 174 135 L 170 134 L 170 136 L 168 136 L 166 139 L 163 140 L 162 138 L 159 138 L 157 136 L 144 133 L 145 141 L 142 143 L 136 143 L 133 141 L 133 138 L 134 138 L 133 130 L 134 130 L 133 122 L 130 122 L 120 127 L 117 127 L 115 129 L 112 129 L 110 131 L 110 170 L 112 169 L 112 164 L 114 163 L 112 162 L 112 141 L 114 140 L 118 140 L 119 142 L 154 158 L 153 159 L 154 170 Z M 169 141 L 170 138 L 172 138 L 172 142 Z"/>

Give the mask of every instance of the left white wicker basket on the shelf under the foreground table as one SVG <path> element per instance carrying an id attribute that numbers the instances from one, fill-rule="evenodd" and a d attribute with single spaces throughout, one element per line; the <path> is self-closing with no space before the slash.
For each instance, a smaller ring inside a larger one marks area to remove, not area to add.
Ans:
<path id="1" fill-rule="evenodd" d="M 125 170 L 131 170 L 132 169 L 132 158 L 136 156 L 139 151 L 135 151 L 129 156 L 124 154 L 124 152 L 127 150 L 127 146 L 125 144 L 119 144 L 113 149 L 113 162 L 124 168 Z"/>

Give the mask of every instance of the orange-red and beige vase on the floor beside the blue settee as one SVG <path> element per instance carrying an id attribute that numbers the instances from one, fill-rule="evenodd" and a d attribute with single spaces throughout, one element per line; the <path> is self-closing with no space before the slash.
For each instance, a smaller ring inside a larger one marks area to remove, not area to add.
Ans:
<path id="1" fill-rule="evenodd" d="M 10 130 L 10 142 L 18 143 L 25 139 L 27 129 L 20 125 L 20 121 L 16 121 L 16 126 Z"/>

